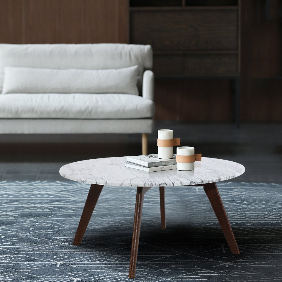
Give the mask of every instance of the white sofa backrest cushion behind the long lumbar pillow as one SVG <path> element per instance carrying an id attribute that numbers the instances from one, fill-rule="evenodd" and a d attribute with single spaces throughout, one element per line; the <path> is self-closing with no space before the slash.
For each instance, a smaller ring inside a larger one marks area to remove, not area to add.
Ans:
<path id="1" fill-rule="evenodd" d="M 0 92 L 5 67 L 50 69 L 117 69 L 138 65 L 142 86 L 144 70 L 152 69 L 150 45 L 135 44 L 0 44 Z"/>

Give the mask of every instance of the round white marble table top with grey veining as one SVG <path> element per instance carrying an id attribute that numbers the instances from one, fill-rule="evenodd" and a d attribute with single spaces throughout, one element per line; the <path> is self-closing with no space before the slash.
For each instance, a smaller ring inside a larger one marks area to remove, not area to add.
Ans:
<path id="1" fill-rule="evenodd" d="M 124 166 L 126 157 L 82 160 L 60 168 L 60 175 L 70 180 L 115 186 L 181 186 L 212 183 L 235 178 L 245 172 L 243 165 L 214 158 L 195 162 L 195 170 L 176 169 L 145 172 Z"/>

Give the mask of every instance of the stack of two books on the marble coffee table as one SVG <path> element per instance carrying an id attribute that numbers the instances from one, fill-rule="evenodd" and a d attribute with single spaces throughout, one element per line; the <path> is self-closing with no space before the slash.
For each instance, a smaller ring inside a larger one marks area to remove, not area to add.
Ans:
<path id="1" fill-rule="evenodd" d="M 147 172 L 175 169 L 176 155 L 172 159 L 159 159 L 158 154 L 127 157 L 124 166 Z"/>

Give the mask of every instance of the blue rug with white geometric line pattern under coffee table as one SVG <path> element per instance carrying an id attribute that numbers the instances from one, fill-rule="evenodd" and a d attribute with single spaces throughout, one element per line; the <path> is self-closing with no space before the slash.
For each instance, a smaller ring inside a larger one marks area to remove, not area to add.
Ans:
<path id="1" fill-rule="evenodd" d="M 80 246 L 89 185 L 0 182 L 0 281 L 282 281 L 282 185 L 219 183 L 240 255 L 232 255 L 202 187 L 145 194 L 135 280 L 128 279 L 136 188 L 102 190 Z"/>

